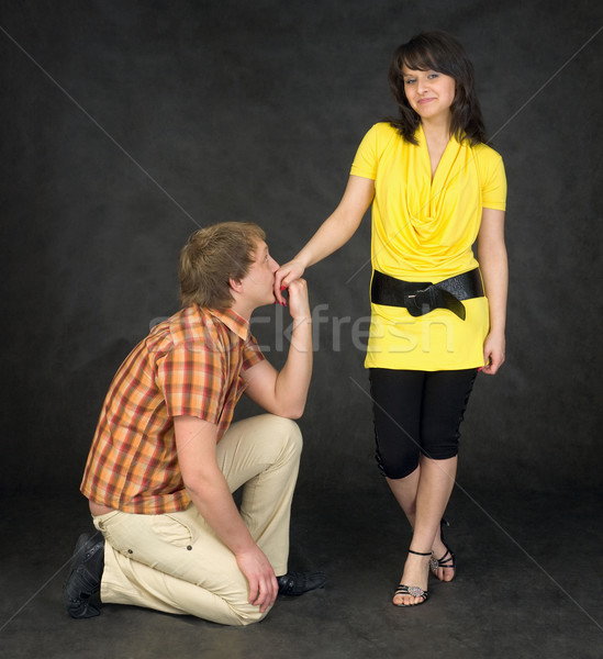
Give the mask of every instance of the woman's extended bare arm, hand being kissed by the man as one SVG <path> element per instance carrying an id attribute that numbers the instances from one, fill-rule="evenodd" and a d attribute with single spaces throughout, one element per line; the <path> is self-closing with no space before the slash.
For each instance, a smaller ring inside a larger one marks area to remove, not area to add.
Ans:
<path id="1" fill-rule="evenodd" d="M 275 276 L 275 295 L 283 302 L 281 287 L 299 279 L 305 268 L 313 266 L 345 245 L 356 233 L 375 196 L 375 181 L 350 176 L 342 201 L 323 222 L 301 252 L 279 268 Z"/>

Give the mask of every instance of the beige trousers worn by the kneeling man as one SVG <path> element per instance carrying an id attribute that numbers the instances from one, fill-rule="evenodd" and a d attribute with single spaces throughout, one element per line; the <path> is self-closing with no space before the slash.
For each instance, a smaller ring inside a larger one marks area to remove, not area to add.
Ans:
<path id="1" fill-rule="evenodd" d="M 263 414 L 232 424 L 216 448 L 241 515 L 277 576 L 287 572 L 291 500 L 302 448 L 298 425 Z M 93 517 L 104 535 L 101 601 L 248 625 L 268 612 L 248 603 L 248 583 L 233 552 L 191 504 L 186 511 Z"/>

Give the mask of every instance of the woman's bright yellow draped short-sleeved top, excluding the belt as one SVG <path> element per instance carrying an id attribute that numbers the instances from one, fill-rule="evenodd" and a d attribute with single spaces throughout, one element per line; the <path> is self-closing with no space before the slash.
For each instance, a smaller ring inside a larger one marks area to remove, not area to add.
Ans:
<path id="1" fill-rule="evenodd" d="M 365 135 L 351 174 L 375 181 L 373 270 L 405 281 L 436 283 L 478 267 L 472 253 L 483 208 L 504 211 L 501 156 L 484 144 L 450 138 L 435 176 L 425 135 L 406 142 L 389 123 Z M 365 366 L 457 370 L 483 366 L 488 300 L 465 300 L 465 321 L 447 309 L 413 317 L 404 308 L 371 304 Z"/>

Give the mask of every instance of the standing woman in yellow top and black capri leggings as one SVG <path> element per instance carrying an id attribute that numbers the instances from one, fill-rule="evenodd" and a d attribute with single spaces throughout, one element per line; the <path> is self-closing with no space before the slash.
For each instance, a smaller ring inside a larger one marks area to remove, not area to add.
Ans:
<path id="1" fill-rule="evenodd" d="M 415 606 L 428 599 L 429 568 L 455 576 L 442 525 L 459 426 L 478 370 L 494 375 L 504 361 L 506 181 L 456 38 L 413 37 L 389 79 L 400 116 L 366 134 L 339 205 L 280 268 L 275 291 L 281 301 L 281 287 L 344 245 L 372 202 L 365 366 L 379 469 L 413 528 L 393 604 Z"/>

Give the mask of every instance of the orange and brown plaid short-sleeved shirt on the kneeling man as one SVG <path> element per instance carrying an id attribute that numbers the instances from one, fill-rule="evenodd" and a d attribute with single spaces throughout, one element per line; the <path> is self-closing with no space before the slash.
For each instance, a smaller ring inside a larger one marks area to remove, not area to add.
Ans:
<path id="1" fill-rule="evenodd" d="M 100 414 L 81 482 L 94 503 L 160 514 L 189 503 L 174 416 L 228 428 L 245 370 L 264 359 L 249 325 L 231 310 L 187 306 L 155 326 L 118 370 Z"/>

